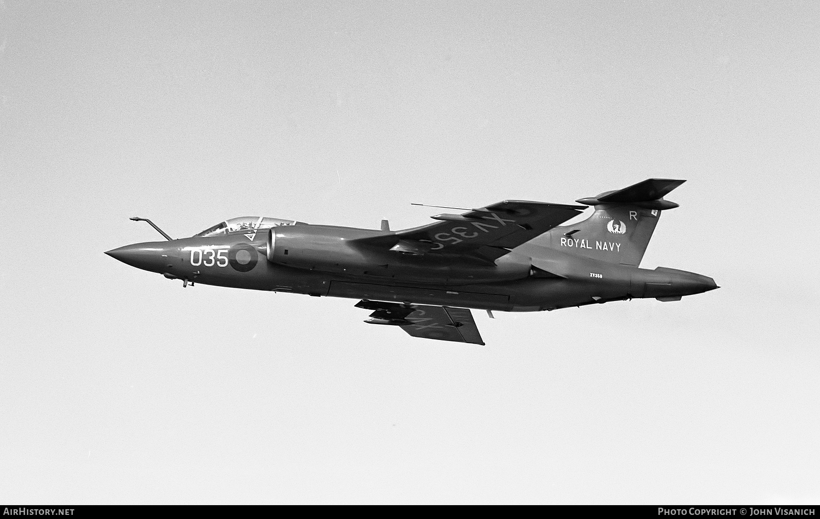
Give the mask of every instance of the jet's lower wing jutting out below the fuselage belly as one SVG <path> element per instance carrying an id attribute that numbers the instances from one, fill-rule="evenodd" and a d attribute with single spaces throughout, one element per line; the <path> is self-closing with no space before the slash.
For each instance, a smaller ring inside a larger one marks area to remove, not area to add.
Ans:
<path id="1" fill-rule="evenodd" d="M 413 337 L 484 346 L 476 321 L 467 308 L 402 305 L 383 301 L 359 301 L 356 306 L 376 310 L 365 323 L 400 326 Z"/>

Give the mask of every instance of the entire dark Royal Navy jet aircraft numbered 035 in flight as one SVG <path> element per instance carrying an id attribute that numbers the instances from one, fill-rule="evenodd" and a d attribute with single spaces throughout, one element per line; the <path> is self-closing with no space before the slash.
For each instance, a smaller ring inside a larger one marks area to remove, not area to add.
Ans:
<path id="1" fill-rule="evenodd" d="M 717 288 L 684 270 L 640 269 L 663 196 L 682 180 L 650 178 L 576 200 L 504 200 L 402 231 L 231 218 L 193 237 L 136 243 L 106 254 L 139 269 L 221 287 L 360 299 L 370 324 L 414 337 L 484 344 L 469 309 L 556 310 L 681 296 Z M 586 206 L 594 213 L 562 226 Z"/>

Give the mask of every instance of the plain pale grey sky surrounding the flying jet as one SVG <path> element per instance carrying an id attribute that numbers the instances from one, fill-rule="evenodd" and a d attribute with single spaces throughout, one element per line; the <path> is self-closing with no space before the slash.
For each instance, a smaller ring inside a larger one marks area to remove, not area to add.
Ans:
<path id="1" fill-rule="evenodd" d="M 817 2 L 169 3 L 0 5 L 0 500 L 820 500 Z M 103 254 L 648 177 L 722 288 L 486 347 Z"/>

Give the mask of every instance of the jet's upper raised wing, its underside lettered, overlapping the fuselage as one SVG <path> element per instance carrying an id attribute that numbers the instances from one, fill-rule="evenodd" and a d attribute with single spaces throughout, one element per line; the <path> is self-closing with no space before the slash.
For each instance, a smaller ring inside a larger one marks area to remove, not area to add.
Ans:
<path id="1" fill-rule="evenodd" d="M 464 214 L 436 214 L 421 227 L 358 240 L 406 254 L 474 255 L 493 261 L 526 241 L 581 214 L 584 205 L 504 200 Z"/>

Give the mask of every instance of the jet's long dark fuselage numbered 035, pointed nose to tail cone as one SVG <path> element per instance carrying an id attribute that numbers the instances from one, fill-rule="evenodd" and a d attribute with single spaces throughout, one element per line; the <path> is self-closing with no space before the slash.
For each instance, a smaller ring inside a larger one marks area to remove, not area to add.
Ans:
<path id="1" fill-rule="evenodd" d="M 357 238 L 379 233 L 369 229 L 308 224 L 273 229 L 149 241 L 107 254 L 186 284 L 483 310 L 674 300 L 717 287 L 712 278 L 695 273 L 639 269 L 532 242 L 487 264 L 435 252 L 362 249 Z"/>

